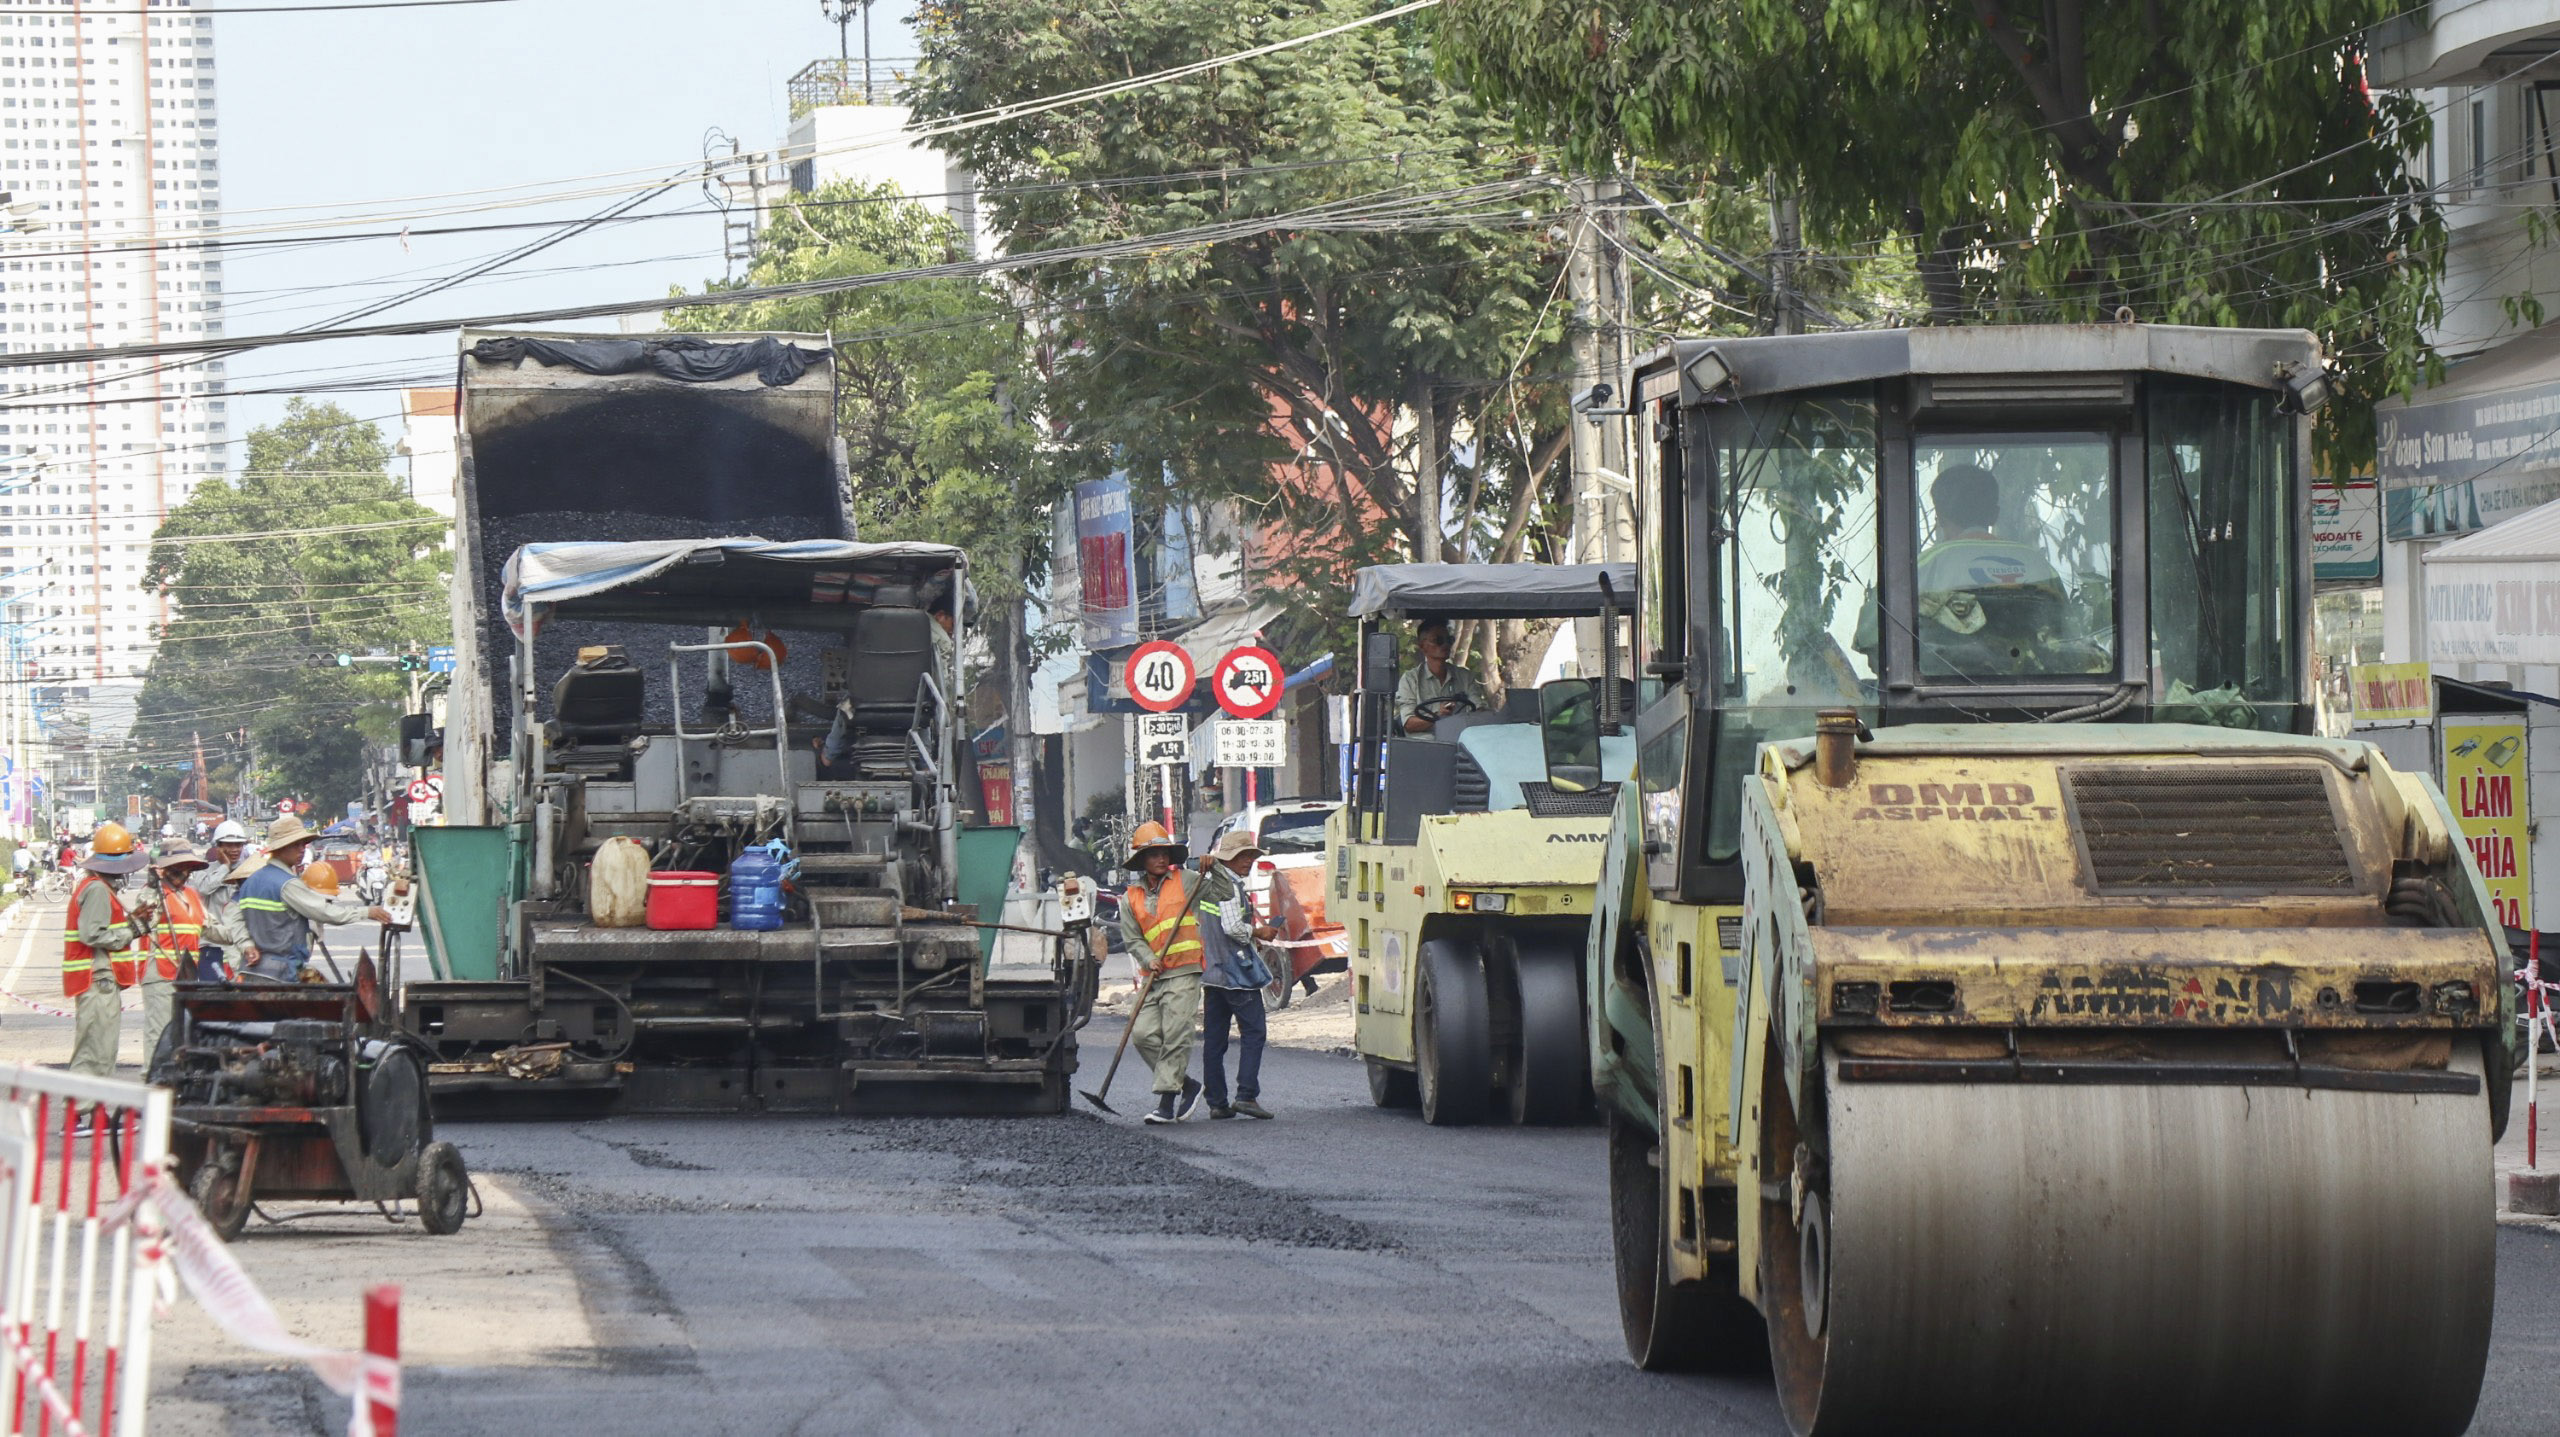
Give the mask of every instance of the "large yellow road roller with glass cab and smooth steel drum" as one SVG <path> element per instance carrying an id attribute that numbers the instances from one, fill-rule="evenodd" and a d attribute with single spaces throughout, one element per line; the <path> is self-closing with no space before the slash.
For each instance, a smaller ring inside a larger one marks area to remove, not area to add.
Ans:
<path id="1" fill-rule="evenodd" d="M 1590 927 L 1620 1317 L 1800 1434 L 2470 1422 L 2514 994 L 2319 738 L 2289 330 L 1679 341 Z"/>

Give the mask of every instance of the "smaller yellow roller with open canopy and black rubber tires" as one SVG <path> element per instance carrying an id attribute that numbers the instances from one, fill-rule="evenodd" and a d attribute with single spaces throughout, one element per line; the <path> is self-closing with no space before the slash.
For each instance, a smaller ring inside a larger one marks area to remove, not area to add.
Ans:
<path id="1" fill-rule="evenodd" d="M 1610 633 L 1633 597 L 1628 564 L 1380 564 L 1352 576 L 1352 797 L 1326 822 L 1326 909 L 1349 935 L 1354 1045 L 1377 1107 L 1418 1107 L 1431 1124 L 1590 1117 L 1582 950 L 1610 781 L 1633 763 L 1620 717 L 1633 689 L 1615 679 L 1521 686 L 1485 712 L 1398 712 L 1398 630 L 1595 620 Z M 1587 753 L 1549 753 L 1546 735 L 1585 727 Z"/>

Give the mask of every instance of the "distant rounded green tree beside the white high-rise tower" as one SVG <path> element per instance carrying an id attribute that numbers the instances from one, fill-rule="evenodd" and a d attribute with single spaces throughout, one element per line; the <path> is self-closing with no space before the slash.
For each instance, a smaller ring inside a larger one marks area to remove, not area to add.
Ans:
<path id="1" fill-rule="evenodd" d="M 202 740 L 218 784 L 246 758 L 246 784 L 269 797 L 320 809 L 369 797 L 364 748 L 392 740 L 404 681 L 312 658 L 453 633 L 445 520 L 410 499 L 389 459 L 371 423 L 297 397 L 248 433 L 238 479 L 197 487 L 161 523 L 143 587 L 172 617 L 133 727 L 154 786 L 174 794 L 177 761 Z"/>

